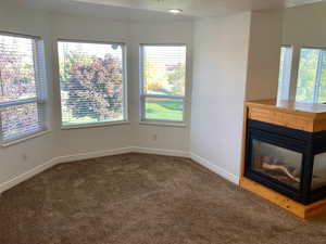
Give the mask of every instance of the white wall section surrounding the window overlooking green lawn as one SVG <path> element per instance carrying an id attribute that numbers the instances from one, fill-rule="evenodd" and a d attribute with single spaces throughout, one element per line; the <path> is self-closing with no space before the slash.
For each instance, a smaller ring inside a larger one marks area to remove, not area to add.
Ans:
<path id="1" fill-rule="evenodd" d="M 133 90 L 130 115 L 133 118 L 133 145 L 150 149 L 173 150 L 187 153 L 189 151 L 189 126 L 191 106 L 191 49 L 192 23 L 134 23 L 130 25 L 131 42 L 131 79 Z M 185 127 L 139 125 L 139 44 L 140 43 L 185 43 L 187 44 L 187 90 L 186 90 L 186 125 Z M 153 136 L 156 134 L 156 140 Z"/>

